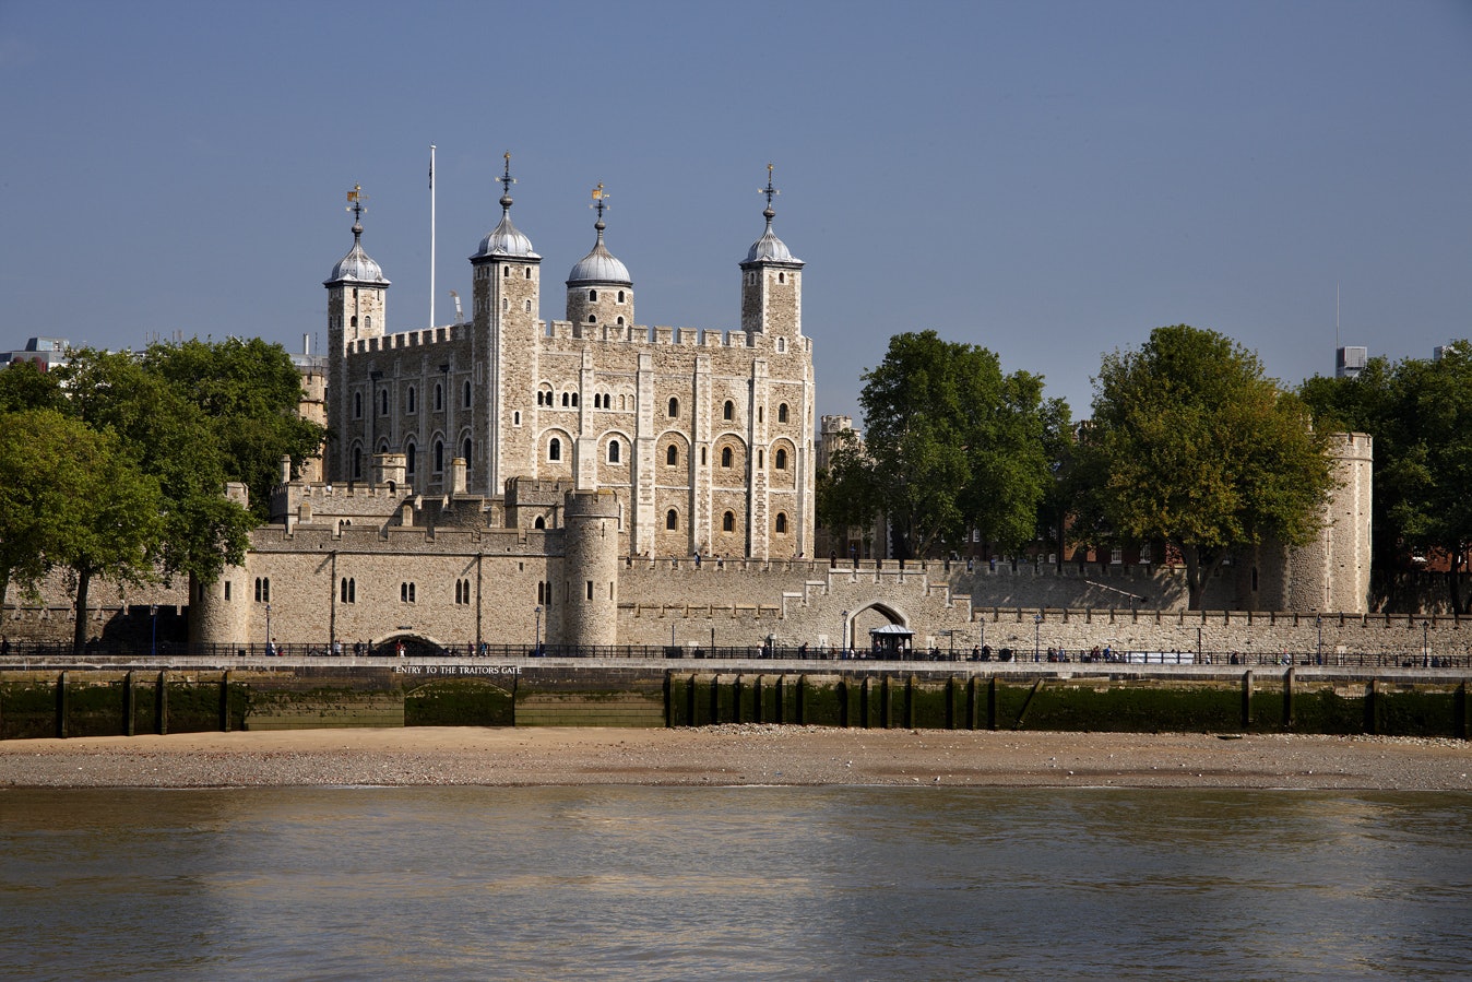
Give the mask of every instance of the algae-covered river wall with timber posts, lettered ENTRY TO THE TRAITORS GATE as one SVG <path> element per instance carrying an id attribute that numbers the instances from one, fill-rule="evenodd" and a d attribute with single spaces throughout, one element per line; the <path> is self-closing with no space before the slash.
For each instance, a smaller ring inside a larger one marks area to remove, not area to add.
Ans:
<path id="1" fill-rule="evenodd" d="M 0 668 L 0 739 L 720 723 L 1472 739 L 1466 673 L 380 661 L 389 664 Z"/>

